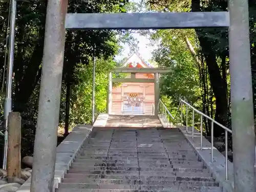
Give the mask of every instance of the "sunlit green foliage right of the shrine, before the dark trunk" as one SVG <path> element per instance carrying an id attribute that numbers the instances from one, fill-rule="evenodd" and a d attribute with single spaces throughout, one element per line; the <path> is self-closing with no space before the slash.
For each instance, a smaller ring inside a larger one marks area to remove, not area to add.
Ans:
<path id="1" fill-rule="evenodd" d="M 158 66 L 172 68 L 172 73 L 162 75 L 161 94 L 169 95 L 175 104 L 180 98 L 194 103 L 200 96 L 198 68 L 179 32 L 158 30 L 152 35 L 153 40 L 161 40 L 153 53 Z"/>

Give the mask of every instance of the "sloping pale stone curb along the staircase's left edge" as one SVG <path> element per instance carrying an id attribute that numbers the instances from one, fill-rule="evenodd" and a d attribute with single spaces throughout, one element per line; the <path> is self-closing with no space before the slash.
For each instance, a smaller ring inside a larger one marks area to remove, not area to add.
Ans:
<path id="1" fill-rule="evenodd" d="M 53 191 L 58 188 L 58 184 L 61 183 L 61 179 L 66 174 L 92 129 L 92 125 L 77 125 L 57 146 Z M 30 184 L 31 177 L 16 192 L 30 192 Z"/>

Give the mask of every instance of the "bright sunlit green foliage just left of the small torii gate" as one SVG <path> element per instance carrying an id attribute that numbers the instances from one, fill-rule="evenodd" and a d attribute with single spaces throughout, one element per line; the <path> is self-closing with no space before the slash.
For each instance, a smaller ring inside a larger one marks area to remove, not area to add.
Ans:
<path id="1" fill-rule="evenodd" d="M 95 76 L 95 102 L 100 113 L 106 108 L 106 88 L 108 74 L 116 66 L 112 60 L 97 59 Z M 92 61 L 88 66 L 77 68 L 79 82 L 72 88 L 70 122 L 73 124 L 91 124 L 92 120 Z"/>

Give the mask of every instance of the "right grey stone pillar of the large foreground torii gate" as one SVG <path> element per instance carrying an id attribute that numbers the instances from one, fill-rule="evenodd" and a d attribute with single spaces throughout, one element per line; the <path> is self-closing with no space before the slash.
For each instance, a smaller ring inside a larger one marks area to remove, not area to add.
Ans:
<path id="1" fill-rule="evenodd" d="M 255 133 L 248 1 L 229 0 L 229 17 L 234 192 L 253 192 L 256 191 Z"/>

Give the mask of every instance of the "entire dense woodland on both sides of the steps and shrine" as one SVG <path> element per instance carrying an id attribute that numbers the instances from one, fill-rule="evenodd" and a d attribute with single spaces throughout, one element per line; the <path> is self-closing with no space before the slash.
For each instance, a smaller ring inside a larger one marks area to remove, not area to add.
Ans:
<path id="1" fill-rule="evenodd" d="M 18 1 L 15 28 L 13 74 L 13 111 L 22 114 L 22 156 L 33 154 L 38 108 L 41 60 L 44 49 L 47 1 Z M 126 11 L 226 11 L 227 1 L 204 0 L 81 0 L 69 1 L 69 12 L 103 13 Z M 0 0 L 0 118 L 3 119 L 6 83 L 6 46 L 8 47 L 9 1 Z M 256 2 L 249 1 L 251 68 L 256 110 Z M 67 31 L 62 75 L 59 128 L 68 130 L 78 123 L 91 123 L 92 65 L 96 57 L 96 105 L 105 111 L 108 72 L 120 65 L 114 56 L 122 51 L 120 42 L 131 47 L 133 30 Z M 172 113 L 185 99 L 221 124 L 231 127 L 228 30 L 226 28 L 137 31 L 158 44 L 153 52 L 159 67 L 172 67 L 161 76 L 161 98 Z M 7 52 L 8 53 L 8 52 Z M 190 114 L 191 115 L 191 114 Z M 198 117 L 197 117 L 198 118 Z M 191 120 L 191 118 L 190 118 Z M 209 125 L 204 119 L 205 134 Z M 66 129 L 65 129 L 66 128 Z M 215 126 L 215 136 L 223 130 Z M 3 135 L 1 136 L 1 150 Z M 60 138 L 61 139 L 61 138 Z M 0 158 L 2 161 L 2 158 Z M 0 162 L 0 164 L 2 164 Z"/>

